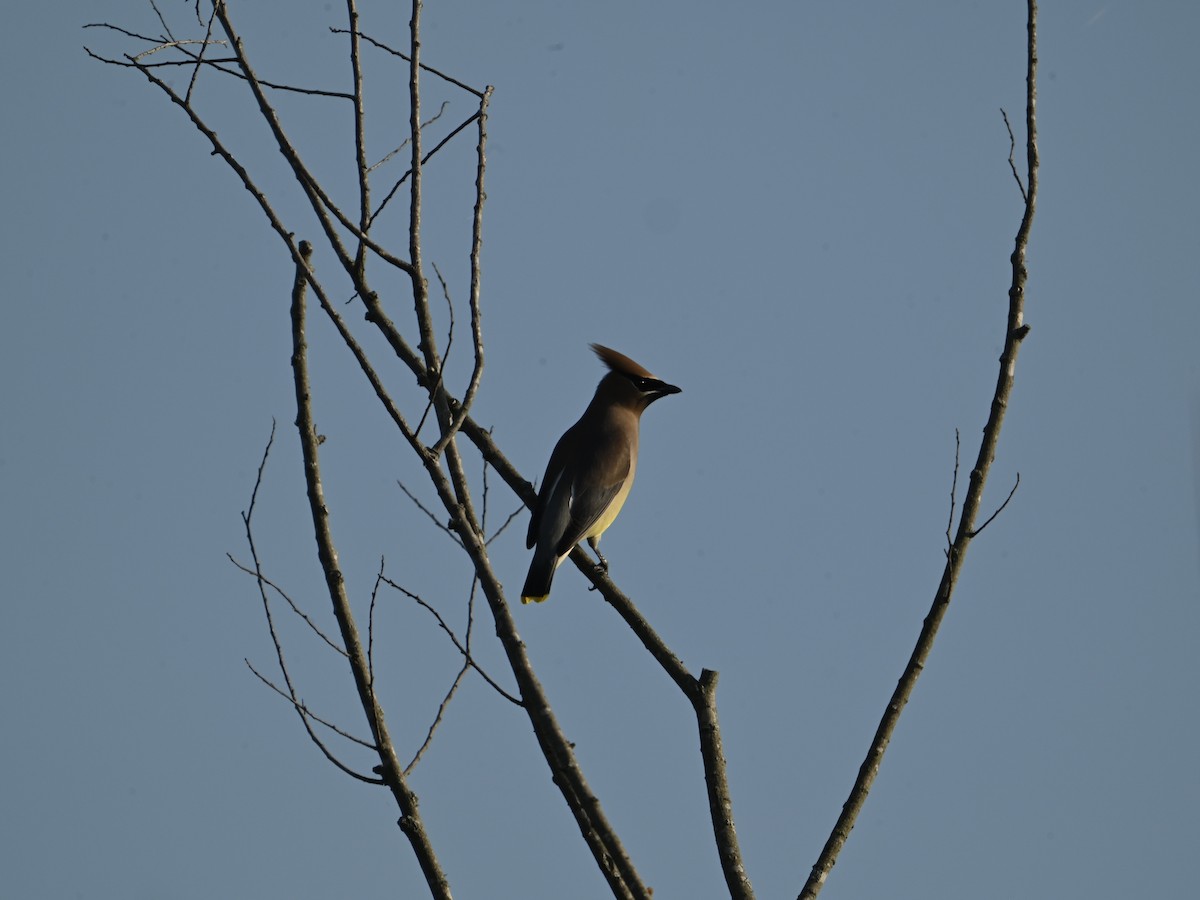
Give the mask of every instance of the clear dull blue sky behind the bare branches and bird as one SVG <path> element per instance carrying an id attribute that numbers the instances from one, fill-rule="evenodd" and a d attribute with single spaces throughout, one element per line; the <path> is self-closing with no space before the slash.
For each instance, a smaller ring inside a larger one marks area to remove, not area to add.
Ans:
<path id="1" fill-rule="evenodd" d="M 160 5 L 199 36 L 191 4 Z M 233 7 L 264 77 L 348 89 L 328 31 L 343 5 Z M 364 28 L 398 43 L 394 7 L 364 2 Z M 589 341 L 683 388 L 647 413 L 604 547 L 689 666 L 721 672 L 746 864 L 760 898 L 794 896 L 936 587 L 955 428 L 973 458 L 986 415 L 1025 5 L 431 1 L 425 18 L 427 62 L 496 85 L 475 415 L 533 479 L 600 376 Z M 132 48 L 82 30 L 96 20 L 158 31 L 140 0 L 74 0 L 17 4 L 0 36 L 0 896 L 419 896 L 389 798 L 332 769 L 242 661 L 270 670 L 272 652 L 226 552 L 247 556 L 272 418 L 259 550 L 330 620 L 290 427 L 290 263 L 180 112 L 85 56 Z M 1200 882 L 1196 34 L 1192 2 L 1044 5 L 1032 332 L 985 505 L 1018 473 L 1020 490 L 971 548 L 826 898 Z M 368 76 L 382 156 L 404 78 L 379 58 Z M 251 106 L 211 73 L 199 91 L 316 236 Z M 445 122 L 469 114 L 431 84 L 430 108 L 443 97 Z M 346 108 L 281 114 L 350 203 Z M 444 155 L 426 208 L 458 301 L 470 149 Z M 385 557 L 461 629 L 469 576 L 396 487 L 432 502 L 330 332 L 314 320 L 317 421 L 355 602 Z M 498 479 L 490 504 L 493 523 L 516 508 Z M 526 521 L 491 547 L 510 598 Z M 724 896 L 686 702 L 576 572 L 515 614 L 646 881 Z M 305 698 L 365 732 L 346 671 L 286 636 Z M 474 640 L 509 684 L 485 610 Z M 457 659 L 397 595 L 378 642 L 412 752 Z M 457 896 L 607 895 L 527 719 L 481 679 L 413 787 Z"/>

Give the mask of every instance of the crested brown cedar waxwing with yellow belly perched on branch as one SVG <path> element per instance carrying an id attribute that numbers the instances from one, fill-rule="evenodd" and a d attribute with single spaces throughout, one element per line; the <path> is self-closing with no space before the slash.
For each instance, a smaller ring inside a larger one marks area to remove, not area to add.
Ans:
<path id="1" fill-rule="evenodd" d="M 610 372 L 550 455 L 526 536 L 526 546 L 536 550 L 521 589 L 523 604 L 550 596 L 554 570 L 584 538 L 607 571 L 608 560 L 596 545 L 634 485 L 642 412 L 659 397 L 679 394 L 629 356 L 598 343 L 592 349 Z"/>

